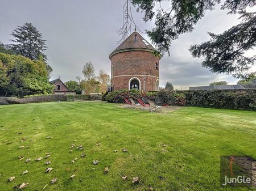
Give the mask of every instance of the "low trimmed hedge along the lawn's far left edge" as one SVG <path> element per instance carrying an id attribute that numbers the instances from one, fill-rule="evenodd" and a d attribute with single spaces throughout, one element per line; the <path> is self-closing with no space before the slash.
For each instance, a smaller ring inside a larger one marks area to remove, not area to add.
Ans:
<path id="1" fill-rule="evenodd" d="M 0 97 L 0 105 L 7 104 L 25 104 L 25 103 L 39 103 L 48 101 L 67 101 L 65 95 L 39 95 L 39 96 L 29 96 L 22 99 L 16 97 Z"/>

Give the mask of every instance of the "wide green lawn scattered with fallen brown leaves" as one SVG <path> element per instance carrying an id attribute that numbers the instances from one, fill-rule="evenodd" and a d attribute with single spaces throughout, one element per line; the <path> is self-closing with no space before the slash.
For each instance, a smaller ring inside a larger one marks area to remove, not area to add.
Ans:
<path id="1" fill-rule="evenodd" d="M 24 190 L 43 190 L 46 184 L 45 190 L 224 190 L 220 155 L 256 158 L 256 112 L 185 107 L 163 115 L 117 106 L 101 102 L 0 106 L 0 190 L 13 190 L 22 182 L 30 182 Z M 22 138 L 27 139 L 20 142 Z M 69 153 L 73 143 L 84 150 L 73 148 Z M 34 161 L 47 152 L 51 152 L 48 159 Z M 85 158 L 80 157 L 83 152 Z M 19 161 L 20 155 L 24 160 Z M 27 158 L 30 163 L 25 163 Z M 93 160 L 100 163 L 94 165 Z M 53 167 L 52 172 L 45 173 L 47 167 Z M 105 167 L 109 167 L 106 175 Z M 125 175 L 127 180 L 122 179 Z M 11 176 L 16 178 L 7 182 Z M 141 181 L 133 185 L 136 176 Z M 55 184 L 49 184 L 55 177 Z"/>

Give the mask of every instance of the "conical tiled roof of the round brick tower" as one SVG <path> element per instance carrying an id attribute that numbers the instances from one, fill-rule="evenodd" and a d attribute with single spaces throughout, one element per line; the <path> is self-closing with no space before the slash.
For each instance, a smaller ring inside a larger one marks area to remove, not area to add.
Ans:
<path id="1" fill-rule="evenodd" d="M 136 40 L 135 40 L 136 36 Z M 127 52 L 133 50 L 144 50 L 148 52 L 155 52 L 156 49 L 148 43 L 137 31 L 131 33 L 109 56 L 110 60 L 114 54 L 119 52 Z"/>

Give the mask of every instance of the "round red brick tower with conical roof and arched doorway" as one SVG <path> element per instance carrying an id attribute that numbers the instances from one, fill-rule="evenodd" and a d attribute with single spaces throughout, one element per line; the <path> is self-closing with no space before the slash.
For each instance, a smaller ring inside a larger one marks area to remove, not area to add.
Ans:
<path id="1" fill-rule="evenodd" d="M 159 90 L 159 60 L 156 50 L 138 32 L 133 32 L 109 56 L 112 91 Z"/>

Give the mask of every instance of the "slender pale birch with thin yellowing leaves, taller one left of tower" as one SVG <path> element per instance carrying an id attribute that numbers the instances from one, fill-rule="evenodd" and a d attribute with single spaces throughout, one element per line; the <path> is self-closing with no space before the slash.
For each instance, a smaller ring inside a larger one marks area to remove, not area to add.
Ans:
<path id="1" fill-rule="evenodd" d="M 95 81 L 94 67 L 91 61 L 85 63 L 84 69 L 82 69 L 82 74 L 84 74 L 85 91 L 87 91 L 88 94 L 90 94 L 90 92 L 93 89 L 92 85 L 94 84 L 94 81 Z"/>

